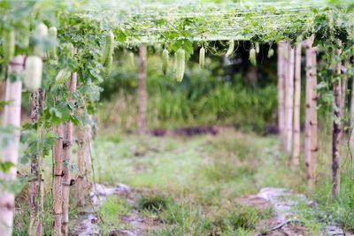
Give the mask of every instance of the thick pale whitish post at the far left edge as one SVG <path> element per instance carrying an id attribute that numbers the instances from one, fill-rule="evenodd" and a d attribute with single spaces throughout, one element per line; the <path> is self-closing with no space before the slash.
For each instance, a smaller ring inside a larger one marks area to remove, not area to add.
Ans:
<path id="1" fill-rule="evenodd" d="M 9 64 L 9 73 L 23 71 L 25 57 L 20 55 L 13 57 Z M 14 166 L 7 171 L 0 171 L 0 179 L 12 181 L 16 179 L 16 165 L 19 161 L 19 127 L 21 118 L 21 80 L 12 82 L 6 80 L 5 101 L 11 102 L 4 107 L 4 126 L 13 126 L 13 140 L 4 148 L 2 162 L 10 162 Z M 13 211 L 15 207 L 15 195 L 6 189 L 0 189 L 0 235 L 11 236 L 13 225 Z"/>

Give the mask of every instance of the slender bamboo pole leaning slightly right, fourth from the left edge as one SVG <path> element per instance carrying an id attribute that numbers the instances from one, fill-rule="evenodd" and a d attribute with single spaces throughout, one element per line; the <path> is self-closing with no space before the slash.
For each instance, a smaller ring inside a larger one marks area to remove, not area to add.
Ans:
<path id="1" fill-rule="evenodd" d="M 73 102 L 73 93 L 76 91 L 77 73 L 73 72 L 70 80 L 68 81 L 69 88 L 69 101 Z M 69 197 L 70 197 L 70 184 L 71 184 L 71 170 L 70 164 L 72 162 L 73 155 L 73 123 L 67 122 L 64 130 L 64 142 L 63 142 L 63 156 L 65 165 L 63 168 L 63 223 L 62 232 L 64 235 L 69 234 Z"/>

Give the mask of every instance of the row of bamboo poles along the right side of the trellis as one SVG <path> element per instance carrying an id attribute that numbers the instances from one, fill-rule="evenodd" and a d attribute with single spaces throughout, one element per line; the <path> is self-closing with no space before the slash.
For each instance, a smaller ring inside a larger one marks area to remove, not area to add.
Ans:
<path id="1" fill-rule="evenodd" d="M 278 43 L 278 126 L 283 149 L 295 166 L 300 164 L 301 154 L 301 58 L 302 48 L 305 48 L 305 124 L 304 124 L 304 163 L 308 186 L 313 189 L 316 183 L 316 163 L 318 155 L 318 120 L 317 120 L 317 49 L 312 47 L 313 37 L 296 44 L 293 49 L 289 42 Z M 336 49 L 336 57 L 341 56 L 341 50 Z M 345 66 L 345 65 L 344 65 Z M 335 74 L 342 72 L 342 62 L 335 66 Z M 340 191 L 340 148 L 343 138 L 343 115 L 346 108 L 346 91 L 348 78 L 335 80 L 333 84 L 334 121 L 332 133 L 332 175 L 333 196 Z M 354 98 L 354 83 L 351 89 Z M 354 101 L 353 99 L 351 101 Z M 354 126 L 354 106 L 350 107 L 350 127 Z M 350 135 L 351 137 L 351 135 Z M 354 147 L 354 139 L 350 138 Z"/>

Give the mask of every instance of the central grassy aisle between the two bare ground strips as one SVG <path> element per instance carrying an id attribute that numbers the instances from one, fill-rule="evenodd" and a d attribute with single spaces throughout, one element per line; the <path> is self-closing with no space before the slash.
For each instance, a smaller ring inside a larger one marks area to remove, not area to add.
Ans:
<path id="1" fill-rule="evenodd" d="M 273 162 L 264 158 L 275 152 L 275 137 L 227 131 L 219 136 L 117 140 L 97 141 L 97 178 L 158 193 L 143 195 L 137 206 L 163 222 L 154 235 L 248 235 L 259 220 L 272 216 L 271 209 L 242 207 L 233 200 L 269 184 L 259 176 L 268 174 L 264 168 L 284 164 L 279 153 Z"/>

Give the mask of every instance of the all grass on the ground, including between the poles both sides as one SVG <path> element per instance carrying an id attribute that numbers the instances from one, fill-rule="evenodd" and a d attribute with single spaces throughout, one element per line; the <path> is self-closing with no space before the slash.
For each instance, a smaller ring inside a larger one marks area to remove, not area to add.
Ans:
<path id="1" fill-rule="evenodd" d="M 318 202 L 316 210 L 301 201 L 295 209 L 312 235 L 319 235 L 322 225 L 334 222 L 353 229 L 350 159 L 342 159 L 342 191 L 333 200 L 330 147 L 323 143 L 327 140 L 320 142 L 319 183 L 311 193 L 303 168 L 289 169 L 289 160 L 279 151 L 275 136 L 235 130 L 191 138 L 138 137 L 112 131 L 101 134 L 94 145 L 96 181 L 150 188 L 149 194 L 143 194 L 135 206 L 117 196 L 109 197 L 99 209 L 101 228 L 108 234 L 113 229 L 130 227 L 120 217 L 136 208 L 143 216 L 158 217 L 162 222 L 158 229 L 154 227 L 149 232 L 151 235 L 254 235 L 259 230 L 258 222 L 272 217 L 273 209 L 241 206 L 236 203 L 237 198 L 257 194 L 261 187 L 289 187 Z M 345 147 L 342 153 L 347 155 Z M 48 169 L 45 173 L 49 173 L 50 158 L 45 160 L 45 166 Z M 50 181 L 46 184 L 50 193 Z M 17 198 L 14 235 L 27 235 L 26 191 Z M 74 219 L 78 209 L 72 200 L 71 219 Z M 50 209 L 50 194 L 46 194 L 45 202 L 46 209 Z M 47 212 L 50 210 L 45 211 L 44 232 L 50 234 L 51 216 Z"/>

